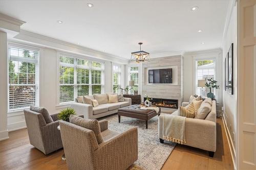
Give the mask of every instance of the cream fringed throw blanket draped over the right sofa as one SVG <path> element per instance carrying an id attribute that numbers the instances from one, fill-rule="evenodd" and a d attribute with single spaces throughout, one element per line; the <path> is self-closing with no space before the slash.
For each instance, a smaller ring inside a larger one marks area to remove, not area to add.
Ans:
<path id="1" fill-rule="evenodd" d="M 176 143 L 186 143 L 185 118 L 172 114 L 163 115 L 163 139 Z"/>

